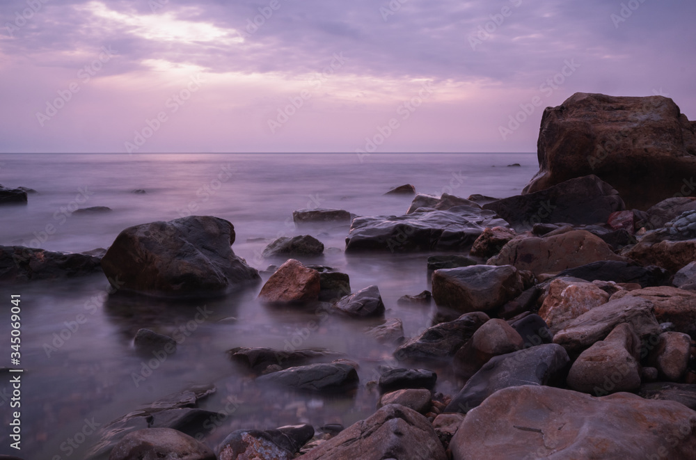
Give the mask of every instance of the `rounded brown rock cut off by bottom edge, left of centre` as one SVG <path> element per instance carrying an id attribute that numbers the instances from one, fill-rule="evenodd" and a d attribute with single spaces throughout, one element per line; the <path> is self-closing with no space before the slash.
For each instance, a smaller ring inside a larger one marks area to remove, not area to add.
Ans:
<path id="1" fill-rule="evenodd" d="M 148 428 L 127 434 L 113 447 L 109 460 L 216 460 L 215 454 L 181 431 Z"/>

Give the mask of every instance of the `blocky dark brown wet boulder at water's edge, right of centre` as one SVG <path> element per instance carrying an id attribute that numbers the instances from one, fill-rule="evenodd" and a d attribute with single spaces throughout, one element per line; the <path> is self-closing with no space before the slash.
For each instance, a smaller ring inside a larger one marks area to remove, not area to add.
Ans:
<path id="1" fill-rule="evenodd" d="M 488 312 L 525 290 L 525 278 L 515 267 L 473 265 L 433 273 L 433 298 L 439 306 L 461 312 Z"/>

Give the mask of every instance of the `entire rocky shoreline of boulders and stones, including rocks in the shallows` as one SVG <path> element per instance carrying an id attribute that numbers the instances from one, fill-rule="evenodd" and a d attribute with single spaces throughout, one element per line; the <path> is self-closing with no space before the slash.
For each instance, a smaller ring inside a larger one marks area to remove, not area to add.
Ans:
<path id="1" fill-rule="evenodd" d="M 346 257 L 438 253 L 423 267 L 432 292 L 400 299 L 437 306 L 413 337 L 386 317 L 379 286 L 352 290 L 347 273 L 301 262 L 324 252 L 314 236 L 267 246 L 264 256 L 285 262 L 267 269 L 261 303 L 313 311 L 317 324 L 370 321 L 363 333 L 393 350 L 396 365 L 361 381 L 351 356 L 333 350 L 210 352 L 227 353 L 260 394 L 322 399 L 366 388 L 378 400 L 369 417 L 348 427 L 242 426 L 221 439 L 210 433 L 239 403 L 228 395 L 200 409 L 227 390 L 195 387 L 130 408 L 101 429 L 88 458 L 693 459 L 696 123 L 665 97 L 578 93 L 544 111 L 539 166 L 523 194 L 500 200 L 445 193 L 416 195 L 400 216 L 293 213 L 300 227 L 350 225 Z M 26 203 L 19 189 L 1 196 Z M 232 223 L 189 216 L 127 228 L 105 252 L 0 246 L 0 282 L 103 271 L 113 296 L 258 288 L 258 270 L 234 242 Z M 175 340 L 145 329 L 134 341 L 134 352 L 175 352 Z M 454 388 L 448 394 L 436 390 L 441 369 L 456 376 L 438 387 Z"/>

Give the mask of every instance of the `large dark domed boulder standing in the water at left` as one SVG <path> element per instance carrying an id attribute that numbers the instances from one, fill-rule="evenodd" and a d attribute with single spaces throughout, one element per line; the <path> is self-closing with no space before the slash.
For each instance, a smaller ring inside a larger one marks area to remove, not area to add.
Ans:
<path id="1" fill-rule="evenodd" d="M 102 257 L 106 278 L 154 295 L 221 294 L 260 280 L 232 251 L 234 226 L 211 216 L 129 227 Z"/>

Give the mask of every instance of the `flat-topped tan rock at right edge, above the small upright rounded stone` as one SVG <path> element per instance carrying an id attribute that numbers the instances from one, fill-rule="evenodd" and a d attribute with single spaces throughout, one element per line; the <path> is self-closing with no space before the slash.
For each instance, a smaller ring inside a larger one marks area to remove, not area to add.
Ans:
<path id="1" fill-rule="evenodd" d="M 631 297 L 651 302 L 658 322 L 672 323 L 674 331 L 687 334 L 696 331 L 696 292 L 671 286 L 646 287 L 619 291 L 610 300 Z"/>

